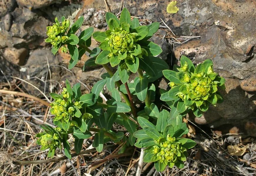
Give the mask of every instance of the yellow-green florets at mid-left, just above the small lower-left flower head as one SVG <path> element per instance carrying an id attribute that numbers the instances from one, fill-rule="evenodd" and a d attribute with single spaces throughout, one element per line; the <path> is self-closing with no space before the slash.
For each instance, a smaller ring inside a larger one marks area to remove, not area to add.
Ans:
<path id="1" fill-rule="evenodd" d="M 64 121 L 68 123 L 72 120 L 72 117 L 74 117 L 74 106 L 76 106 L 78 109 L 81 109 L 82 101 L 75 101 L 74 103 L 70 103 L 70 101 L 68 101 L 70 94 L 67 92 L 66 88 L 63 88 L 62 97 L 62 99 L 54 99 L 54 102 L 50 104 L 52 106 L 51 113 L 55 115 L 53 121 Z"/>

